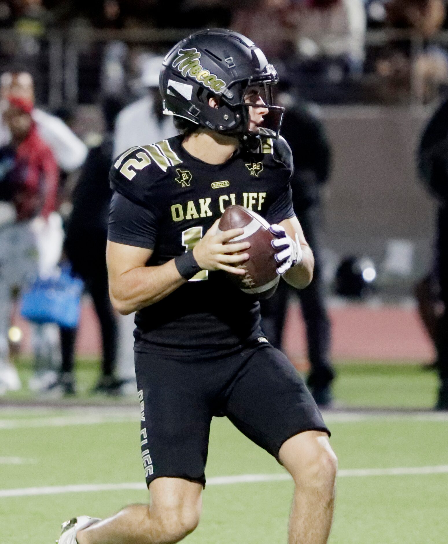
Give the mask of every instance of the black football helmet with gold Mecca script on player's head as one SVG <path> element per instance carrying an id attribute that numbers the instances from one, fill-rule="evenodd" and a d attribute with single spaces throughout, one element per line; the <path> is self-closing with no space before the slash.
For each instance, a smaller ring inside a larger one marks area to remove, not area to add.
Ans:
<path id="1" fill-rule="evenodd" d="M 176 44 L 163 60 L 159 85 L 166 115 L 176 115 L 222 134 L 253 137 L 244 94 L 251 85 L 264 90 L 263 100 L 277 120 L 269 135 L 278 138 L 284 108 L 274 106 L 271 85 L 277 72 L 263 52 L 242 34 L 221 28 L 200 30 Z M 209 106 L 210 93 L 219 108 Z"/>

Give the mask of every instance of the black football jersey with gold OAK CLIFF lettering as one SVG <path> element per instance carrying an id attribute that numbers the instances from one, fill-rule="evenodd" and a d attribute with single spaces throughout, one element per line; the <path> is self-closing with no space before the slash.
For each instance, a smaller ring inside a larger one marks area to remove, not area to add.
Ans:
<path id="1" fill-rule="evenodd" d="M 268 133 L 255 151 L 239 149 L 216 165 L 191 156 L 182 140 L 131 147 L 113 161 L 112 242 L 150 248 L 147 265 L 161 265 L 191 251 L 230 205 L 245 206 L 270 224 L 294 216 L 285 140 Z M 259 307 L 223 271 L 200 271 L 136 313 L 135 349 L 230 353 L 262 334 Z"/>

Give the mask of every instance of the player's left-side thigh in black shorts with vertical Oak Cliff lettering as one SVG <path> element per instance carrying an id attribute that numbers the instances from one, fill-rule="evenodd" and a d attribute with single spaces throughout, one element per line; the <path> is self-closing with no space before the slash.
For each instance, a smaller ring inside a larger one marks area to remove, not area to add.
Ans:
<path id="1" fill-rule="evenodd" d="M 212 412 L 197 366 L 160 353 L 136 353 L 142 460 L 156 478 L 205 484 Z"/>

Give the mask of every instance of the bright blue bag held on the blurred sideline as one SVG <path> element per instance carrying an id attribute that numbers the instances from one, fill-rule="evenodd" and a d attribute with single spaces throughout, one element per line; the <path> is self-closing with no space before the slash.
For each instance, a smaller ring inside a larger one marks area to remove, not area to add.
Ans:
<path id="1" fill-rule="evenodd" d="M 78 325 L 83 290 L 83 281 L 67 268 L 61 269 L 59 277 L 38 278 L 22 295 L 21 316 L 73 329 Z"/>

